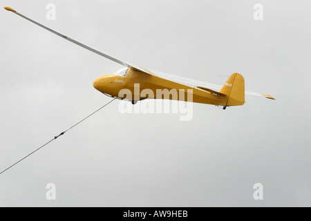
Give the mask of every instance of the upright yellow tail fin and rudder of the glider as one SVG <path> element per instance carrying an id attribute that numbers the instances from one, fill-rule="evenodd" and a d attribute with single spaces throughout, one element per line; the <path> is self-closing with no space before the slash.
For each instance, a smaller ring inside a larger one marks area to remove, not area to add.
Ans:
<path id="1" fill-rule="evenodd" d="M 238 106 L 245 103 L 244 78 L 239 73 L 232 74 L 219 93 L 227 96 L 226 106 Z M 225 107 L 226 107 L 225 106 Z M 224 107 L 224 108 L 225 108 Z"/>

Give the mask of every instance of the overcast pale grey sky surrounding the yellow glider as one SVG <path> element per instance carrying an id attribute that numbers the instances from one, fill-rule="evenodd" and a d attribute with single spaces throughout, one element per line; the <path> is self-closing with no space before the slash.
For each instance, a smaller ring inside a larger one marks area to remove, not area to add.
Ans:
<path id="1" fill-rule="evenodd" d="M 1 171 L 109 102 L 93 80 L 122 68 L 2 6 L 152 70 L 241 73 L 276 100 L 194 104 L 189 122 L 115 101 L 3 173 L 0 206 L 311 206 L 310 1 L 1 1 Z"/>

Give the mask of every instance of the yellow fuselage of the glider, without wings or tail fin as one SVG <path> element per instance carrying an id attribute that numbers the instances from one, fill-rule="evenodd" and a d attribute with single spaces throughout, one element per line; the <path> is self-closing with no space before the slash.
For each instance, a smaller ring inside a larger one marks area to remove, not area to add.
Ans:
<path id="1" fill-rule="evenodd" d="M 104 93 L 120 99 L 138 101 L 142 99 L 173 99 L 225 106 L 227 96 L 217 95 L 200 88 L 164 79 L 156 75 L 147 75 L 129 68 L 124 76 L 104 75 L 95 79 L 93 86 Z M 125 91 L 124 96 L 123 93 Z M 191 94 L 192 98 L 188 94 Z"/>

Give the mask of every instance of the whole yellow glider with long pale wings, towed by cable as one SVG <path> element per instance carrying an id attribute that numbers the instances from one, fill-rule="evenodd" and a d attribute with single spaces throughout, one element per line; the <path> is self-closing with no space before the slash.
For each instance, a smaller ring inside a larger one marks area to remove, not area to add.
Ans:
<path id="1" fill-rule="evenodd" d="M 102 57 L 106 57 L 111 61 L 115 61 L 122 66 L 126 66 L 126 68 L 117 71 L 115 74 L 104 75 L 95 79 L 93 86 L 105 95 L 124 99 L 124 95 L 120 95 L 120 91 L 122 89 L 126 89 L 129 91 L 129 94 L 131 94 L 131 96 L 127 96 L 126 99 L 131 101 L 132 104 L 135 104 L 138 100 L 142 99 L 160 98 L 202 104 L 213 104 L 216 106 L 223 106 L 224 109 L 227 106 L 243 105 L 245 103 L 245 94 L 274 99 L 270 95 L 245 91 L 244 78 L 239 73 L 232 74 L 223 86 L 218 86 L 216 84 L 209 84 L 202 81 L 187 79 L 185 77 L 178 77 L 176 75 L 169 75 L 166 73 L 160 73 L 158 71 L 147 70 L 146 68 L 141 68 L 140 66 L 121 61 L 120 59 L 116 59 L 115 57 L 111 57 L 103 52 L 95 50 L 94 48 L 90 48 L 78 41 L 75 41 L 74 39 L 71 39 L 70 37 L 67 37 L 66 35 L 62 35 L 55 30 L 41 25 L 41 23 L 37 23 L 37 21 L 33 21 L 32 19 L 21 15 L 19 12 L 8 6 L 4 8 L 15 13 L 16 15 L 19 15 L 20 17 L 23 17 L 24 19 L 27 19 L 28 21 L 31 21 L 32 23 L 35 23 L 41 28 L 53 32 L 59 37 L 71 41 L 78 46 L 82 46 L 87 50 L 91 50 L 97 55 L 101 55 Z M 135 88 L 136 85 L 140 86 L 139 90 Z M 142 95 L 142 91 L 146 89 L 152 92 L 149 93 L 148 96 Z M 176 90 L 178 96 L 156 97 L 155 95 L 157 95 L 157 90 Z M 191 91 L 191 100 L 189 100 L 188 97 L 180 97 L 180 92 L 182 91 Z"/>

